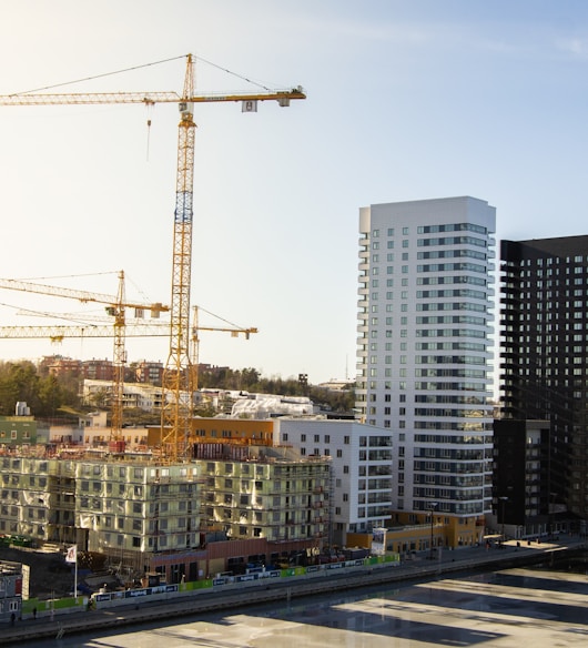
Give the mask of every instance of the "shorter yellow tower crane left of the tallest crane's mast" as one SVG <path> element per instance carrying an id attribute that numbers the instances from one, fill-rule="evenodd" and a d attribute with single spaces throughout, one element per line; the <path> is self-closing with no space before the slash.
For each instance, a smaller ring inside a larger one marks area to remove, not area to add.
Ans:
<path id="1" fill-rule="evenodd" d="M 168 312 L 169 306 L 163 304 L 138 304 L 128 303 L 124 298 L 124 271 L 119 272 L 119 290 L 116 296 L 103 294 L 103 293 L 91 293 L 88 291 L 79 291 L 75 288 L 65 288 L 58 286 L 48 286 L 43 284 L 36 284 L 26 281 L 18 281 L 12 279 L 0 279 L 0 288 L 8 288 L 12 291 L 23 291 L 28 293 L 38 293 L 42 295 L 53 295 L 55 297 L 67 297 L 71 300 L 78 300 L 82 303 L 93 302 L 98 304 L 107 304 L 107 313 L 113 317 L 113 327 L 108 328 L 108 336 L 114 337 L 114 354 L 113 354 L 113 378 L 112 378 L 112 424 L 111 424 L 111 436 L 114 441 L 119 441 L 122 431 L 122 402 L 123 402 L 123 387 L 124 387 L 124 365 L 126 364 L 126 352 L 124 348 L 124 337 L 126 334 L 126 308 L 134 308 L 135 312 L 150 311 L 151 316 L 159 318 L 160 313 Z M 3 332 L 3 337 L 18 337 L 20 327 L 6 327 Z M 37 328 L 38 333 L 41 333 L 40 328 Z M 52 328 L 52 327 L 49 327 Z M 148 328 L 153 330 L 153 326 L 148 326 Z M 163 330 L 160 324 L 159 328 Z M 91 333 L 92 327 L 83 327 L 85 337 L 97 337 L 98 327 Z M 32 333 L 32 332 L 31 332 Z M 64 332 L 57 332 L 53 327 L 52 332 L 47 332 L 47 335 L 31 335 L 34 337 L 53 337 L 64 334 Z M 163 334 L 163 331 L 162 331 Z M 166 328 L 166 334 L 169 334 L 169 328 Z"/>

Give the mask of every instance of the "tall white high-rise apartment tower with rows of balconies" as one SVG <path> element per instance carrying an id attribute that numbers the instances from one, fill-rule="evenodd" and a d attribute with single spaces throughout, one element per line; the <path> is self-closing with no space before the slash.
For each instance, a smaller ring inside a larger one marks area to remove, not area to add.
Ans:
<path id="1" fill-rule="evenodd" d="M 495 222 L 468 196 L 359 210 L 357 407 L 392 435 L 396 512 L 491 508 Z"/>

